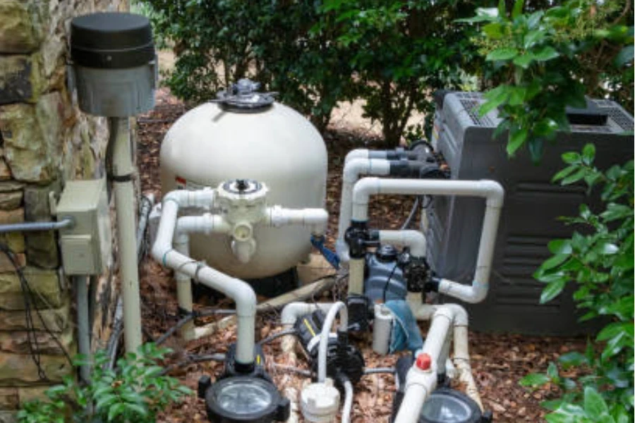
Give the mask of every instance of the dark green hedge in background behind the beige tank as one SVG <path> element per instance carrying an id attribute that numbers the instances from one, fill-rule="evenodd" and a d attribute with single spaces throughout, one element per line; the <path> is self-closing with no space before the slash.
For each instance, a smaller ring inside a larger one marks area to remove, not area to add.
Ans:
<path id="1" fill-rule="evenodd" d="M 466 0 L 143 0 L 159 37 L 174 43 L 167 85 L 202 101 L 239 78 L 263 82 L 282 102 L 326 127 L 337 102 L 365 113 L 396 143 L 413 110 L 432 111 L 431 90 L 458 87 L 474 49 L 452 20 Z"/>

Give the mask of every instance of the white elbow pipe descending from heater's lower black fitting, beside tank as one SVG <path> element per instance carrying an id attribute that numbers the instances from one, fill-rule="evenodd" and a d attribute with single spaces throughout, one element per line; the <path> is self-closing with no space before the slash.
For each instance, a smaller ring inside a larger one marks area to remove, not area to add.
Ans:
<path id="1" fill-rule="evenodd" d="M 361 152 L 360 154 L 354 154 Z M 365 157 L 363 157 L 365 152 Z M 349 157 L 351 157 L 349 159 Z M 349 261 L 349 246 L 344 241 L 344 233 L 351 226 L 351 195 L 353 185 L 362 175 L 385 176 L 390 173 L 390 162 L 385 159 L 368 159 L 368 150 L 353 150 L 346 156 L 341 181 L 341 199 L 339 202 L 339 224 L 335 251 L 342 262 Z"/>

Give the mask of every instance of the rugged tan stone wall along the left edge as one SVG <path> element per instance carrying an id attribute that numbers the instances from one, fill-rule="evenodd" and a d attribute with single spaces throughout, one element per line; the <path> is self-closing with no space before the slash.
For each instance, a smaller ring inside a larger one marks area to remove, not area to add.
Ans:
<path id="1" fill-rule="evenodd" d="M 81 114 L 66 87 L 71 18 L 125 10 L 126 0 L 0 0 L 0 224 L 48 221 L 51 192 L 65 180 L 104 175 L 108 130 L 104 118 Z M 37 352 L 47 380 L 31 357 L 23 283 L 0 253 L 0 423 L 13 422 L 25 400 L 73 372 L 61 348 L 75 353 L 71 286 L 60 269 L 54 233 L 9 233 L 0 243 L 14 253 L 32 290 Z M 104 336 L 114 300 L 110 275 L 94 281 L 93 338 Z M 94 343 L 97 344 L 97 343 Z"/>

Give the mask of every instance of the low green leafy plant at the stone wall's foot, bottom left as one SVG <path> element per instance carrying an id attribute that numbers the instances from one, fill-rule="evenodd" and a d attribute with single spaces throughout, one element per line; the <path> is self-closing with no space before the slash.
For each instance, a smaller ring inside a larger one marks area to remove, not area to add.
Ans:
<path id="1" fill-rule="evenodd" d="M 191 391 L 176 379 L 164 376 L 157 365 L 169 350 L 154 344 L 127 353 L 108 369 L 104 351 L 95 353 L 90 384 L 82 386 L 71 376 L 46 391 L 47 401 L 25 403 L 20 423 L 154 423 L 157 413 Z M 85 364 L 80 357 L 75 365 Z"/>

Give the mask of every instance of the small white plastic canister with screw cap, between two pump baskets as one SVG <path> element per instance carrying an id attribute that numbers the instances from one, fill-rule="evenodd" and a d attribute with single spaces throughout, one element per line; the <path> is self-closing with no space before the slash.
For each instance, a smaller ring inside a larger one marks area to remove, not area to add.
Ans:
<path id="1" fill-rule="evenodd" d="M 333 380 L 327 378 L 323 384 L 310 384 L 300 394 L 300 409 L 308 422 L 333 422 L 339 410 L 339 391 Z"/>

